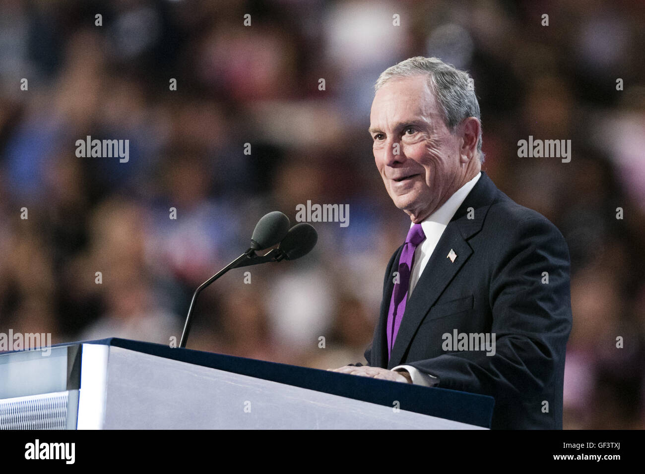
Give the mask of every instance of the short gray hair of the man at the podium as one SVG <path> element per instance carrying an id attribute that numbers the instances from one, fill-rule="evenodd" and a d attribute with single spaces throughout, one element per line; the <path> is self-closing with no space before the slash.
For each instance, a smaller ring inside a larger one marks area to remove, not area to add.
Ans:
<path id="1" fill-rule="evenodd" d="M 452 64 L 446 64 L 436 57 L 410 57 L 399 64 L 390 66 L 379 75 L 379 79 L 374 84 L 374 91 L 376 92 L 383 84 L 397 77 L 410 77 L 418 74 L 428 75 L 430 90 L 441 104 L 444 123 L 450 133 L 454 133 L 457 125 L 468 117 L 477 117 L 481 123 L 479 102 L 477 102 L 475 86 L 470 74 L 460 71 Z M 479 137 L 477 137 L 477 152 L 479 152 L 479 161 L 484 163 L 481 128 Z"/>

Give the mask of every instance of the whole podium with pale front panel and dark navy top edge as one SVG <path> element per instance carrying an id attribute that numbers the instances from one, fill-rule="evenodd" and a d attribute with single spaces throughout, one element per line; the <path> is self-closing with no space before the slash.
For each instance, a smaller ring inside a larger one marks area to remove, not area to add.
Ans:
<path id="1" fill-rule="evenodd" d="M 0 429 L 484 429 L 494 399 L 126 339 L 0 354 Z"/>

